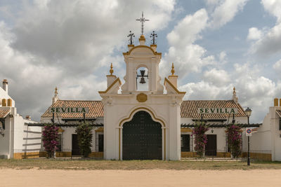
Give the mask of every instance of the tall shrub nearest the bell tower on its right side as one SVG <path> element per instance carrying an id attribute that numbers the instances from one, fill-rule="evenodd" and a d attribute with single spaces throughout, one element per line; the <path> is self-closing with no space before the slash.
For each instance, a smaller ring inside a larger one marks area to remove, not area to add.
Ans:
<path id="1" fill-rule="evenodd" d="M 205 146 L 207 144 L 207 136 L 205 132 L 209 130 L 209 127 L 205 126 L 204 123 L 197 123 L 192 131 L 192 134 L 195 135 L 195 151 L 197 152 L 197 155 L 200 155 L 200 157 L 203 156 Z"/>

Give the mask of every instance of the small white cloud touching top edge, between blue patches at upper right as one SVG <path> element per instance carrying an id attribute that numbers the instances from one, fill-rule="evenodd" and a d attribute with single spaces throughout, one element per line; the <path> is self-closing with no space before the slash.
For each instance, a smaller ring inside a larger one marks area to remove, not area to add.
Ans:
<path id="1" fill-rule="evenodd" d="M 227 22 L 233 20 L 237 12 L 242 11 L 244 5 L 249 0 L 224 0 L 224 1 L 208 1 L 209 3 L 218 4 L 213 13 L 211 13 L 211 22 L 209 26 L 218 28 L 226 25 Z"/>

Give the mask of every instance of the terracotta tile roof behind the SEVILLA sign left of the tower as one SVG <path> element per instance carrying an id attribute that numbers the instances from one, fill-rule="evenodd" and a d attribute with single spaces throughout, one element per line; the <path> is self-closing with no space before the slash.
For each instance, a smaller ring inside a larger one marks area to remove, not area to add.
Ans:
<path id="1" fill-rule="evenodd" d="M 89 113 L 86 118 L 103 117 L 103 103 L 101 101 L 77 101 L 77 100 L 58 100 L 51 107 L 89 107 Z M 60 113 L 58 116 L 62 118 L 83 118 L 82 113 Z M 48 109 L 41 117 L 51 118 L 52 113 L 48 113 Z"/>

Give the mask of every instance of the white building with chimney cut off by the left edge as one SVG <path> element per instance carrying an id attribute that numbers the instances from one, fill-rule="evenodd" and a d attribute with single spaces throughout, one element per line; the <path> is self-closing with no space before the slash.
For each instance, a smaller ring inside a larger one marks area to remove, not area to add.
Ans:
<path id="1" fill-rule="evenodd" d="M 8 95 L 8 81 L 4 79 L 0 88 L 0 157 L 14 158 L 27 149 L 41 148 L 41 127 L 27 127 L 34 123 L 17 113 L 15 101 Z"/>

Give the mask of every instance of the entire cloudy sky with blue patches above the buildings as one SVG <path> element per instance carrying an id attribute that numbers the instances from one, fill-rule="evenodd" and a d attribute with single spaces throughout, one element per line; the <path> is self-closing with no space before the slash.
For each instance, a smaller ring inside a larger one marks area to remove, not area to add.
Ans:
<path id="1" fill-rule="evenodd" d="M 131 30 L 158 35 L 162 81 L 174 62 L 185 99 L 231 99 L 259 123 L 281 97 L 280 0 L 1 0 L 0 79 L 33 119 L 60 99 L 99 100 L 112 62 L 124 77 Z M 147 40 L 147 45 L 150 41 Z"/>

